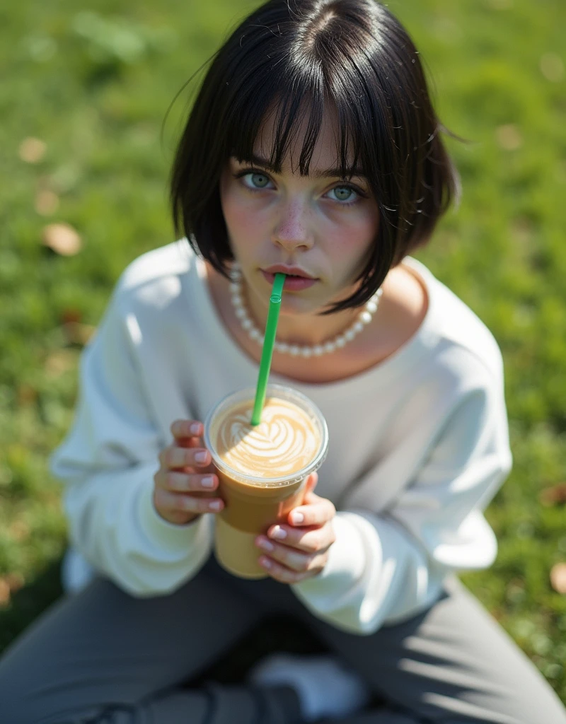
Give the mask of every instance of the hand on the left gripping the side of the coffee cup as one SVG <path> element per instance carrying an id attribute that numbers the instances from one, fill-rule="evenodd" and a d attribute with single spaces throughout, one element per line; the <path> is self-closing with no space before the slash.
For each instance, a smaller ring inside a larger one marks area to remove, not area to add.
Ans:
<path id="1" fill-rule="evenodd" d="M 174 442 L 159 453 L 161 467 L 154 475 L 153 502 L 166 521 L 184 525 L 201 513 L 218 513 L 224 502 L 213 494 L 218 476 L 209 451 L 202 445 L 203 424 L 176 420 L 170 429 Z M 201 453 L 204 460 L 197 460 Z M 207 484 L 207 479 L 212 482 Z"/>

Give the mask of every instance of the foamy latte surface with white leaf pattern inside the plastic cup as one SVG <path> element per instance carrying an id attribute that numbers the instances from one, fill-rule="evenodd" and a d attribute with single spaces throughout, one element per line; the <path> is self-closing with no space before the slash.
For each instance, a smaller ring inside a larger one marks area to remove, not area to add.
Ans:
<path id="1" fill-rule="evenodd" d="M 251 425 L 253 409 L 254 400 L 237 403 L 213 425 L 211 437 L 227 465 L 268 480 L 292 476 L 315 458 L 320 432 L 301 408 L 278 397 L 267 397 L 257 426 Z"/>

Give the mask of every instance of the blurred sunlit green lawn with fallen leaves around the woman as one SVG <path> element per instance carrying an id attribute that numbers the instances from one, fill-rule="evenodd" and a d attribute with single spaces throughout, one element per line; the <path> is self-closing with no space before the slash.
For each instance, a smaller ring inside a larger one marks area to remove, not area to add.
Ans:
<path id="1" fill-rule="evenodd" d="M 162 127 L 165 114 L 257 4 L 0 7 L 0 651 L 61 594 L 66 527 L 47 458 L 117 277 L 175 238 L 167 178 L 201 76 Z M 487 511 L 499 555 L 462 580 L 566 703 L 566 4 L 388 7 L 441 121 L 471 141 L 446 139 L 462 206 L 415 256 L 504 355 L 515 466 Z"/>

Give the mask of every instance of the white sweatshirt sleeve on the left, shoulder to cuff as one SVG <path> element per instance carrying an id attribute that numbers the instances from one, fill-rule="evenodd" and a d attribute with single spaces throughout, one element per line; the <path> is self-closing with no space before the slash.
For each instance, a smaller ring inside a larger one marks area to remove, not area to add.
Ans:
<path id="1" fill-rule="evenodd" d="M 162 442 L 136 369 L 120 288 L 80 360 L 78 405 L 51 455 L 64 484 L 72 544 L 96 570 L 136 596 L 166 594 L 196 575 L 212 547 L 212 521 L 165 521 L 152 501 Z"/>

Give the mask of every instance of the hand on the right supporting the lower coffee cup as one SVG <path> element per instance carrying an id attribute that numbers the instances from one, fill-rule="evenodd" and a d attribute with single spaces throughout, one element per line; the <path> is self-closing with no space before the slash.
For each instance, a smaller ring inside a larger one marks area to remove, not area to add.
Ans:
<path id="1" fill-rule="evenodd" d="M 312 473 L 303 504 L 291 510 L 288 525 L 271 526 L 267 536 L 256 539 L 257 547 L 264 552 L 259 565 L 280 583 L 296 584 L 320 573 L 328 561 L 328 549 L 336 540 L 332 526 L 336 508 L 330 500 L 312 492 L 317 481 L 318 473 Z"/>

